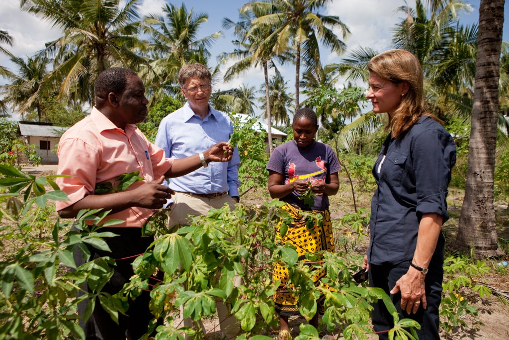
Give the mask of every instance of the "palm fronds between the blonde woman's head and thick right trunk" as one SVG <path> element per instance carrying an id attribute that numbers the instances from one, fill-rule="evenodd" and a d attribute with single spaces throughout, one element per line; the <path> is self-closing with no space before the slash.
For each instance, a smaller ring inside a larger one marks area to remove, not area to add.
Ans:
<path id="1" fill-rule="evenodd" d="M 428 1 L 429 8 L 417 0 L 415 9 L 399 8 L 407 18 L 397 25 L 394 47 L 411 51 L 425 74 L 428 106 L 438 115 L 450 112 L 450 96 L 471 96 L 477 49 L 476 25 L 463 27 L 457 22 L 460 11 L 471 6 L 459 1 Z"/>

